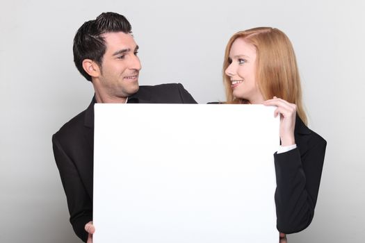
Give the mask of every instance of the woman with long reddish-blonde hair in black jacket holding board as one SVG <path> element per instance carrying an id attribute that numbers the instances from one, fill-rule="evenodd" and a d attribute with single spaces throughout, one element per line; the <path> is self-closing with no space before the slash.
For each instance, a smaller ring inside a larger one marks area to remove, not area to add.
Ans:
<path id="1" fill-rule="evenodd" d="M 307 128 L 293 47 L 277 28 L 252 28 L 229 40 L 223 64 L 227 103 L 277 106 L 280 142 L 274 154 L 275 203 L 281 242 L 314 217 L 326 141 Z"/>

